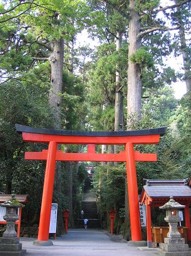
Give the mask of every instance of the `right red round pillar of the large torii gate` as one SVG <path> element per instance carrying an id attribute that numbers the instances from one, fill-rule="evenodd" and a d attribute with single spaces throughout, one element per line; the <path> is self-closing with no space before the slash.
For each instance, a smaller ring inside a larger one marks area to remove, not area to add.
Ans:
<path id="1" fill-rule="evenodd" d="M 127 182 L 128 182 L 128 197 L 129 197 L 129 213 L 131 223 L 132 241 L 141 241 L 141 222 L 139 216 L 139 199 L 137 187 L 136 164 L 134 160 L 133 143 L 125 145 L 125 155 L 127 159 Z"/>

